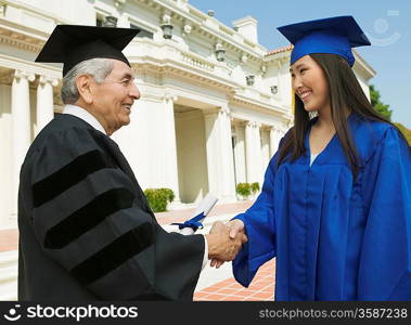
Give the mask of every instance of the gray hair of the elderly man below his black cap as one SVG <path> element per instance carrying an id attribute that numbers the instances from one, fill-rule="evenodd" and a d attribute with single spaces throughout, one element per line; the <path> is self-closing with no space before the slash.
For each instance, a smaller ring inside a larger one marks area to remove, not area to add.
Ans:
<path id="1" fill-rule="evenodd" d="M 113 70 L 113 61 L 108 58 L 90 58 L 76 64 L 63 78 L 62 101 L 74 104 L 80 98 L 76 79 L 80 75 L 90 75 L 97 83 L 101 83 Z"/>

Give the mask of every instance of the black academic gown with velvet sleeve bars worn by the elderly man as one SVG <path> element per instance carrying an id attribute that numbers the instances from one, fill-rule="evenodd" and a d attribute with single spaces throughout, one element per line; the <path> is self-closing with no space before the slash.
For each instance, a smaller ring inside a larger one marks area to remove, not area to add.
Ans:
<path id="1" fill-rule="evenodd" d="M 21 300 L 192 300 L 203 236 L 165 232 L 117 144 L 77 117 L 31 144 L 18 230 Z"/>

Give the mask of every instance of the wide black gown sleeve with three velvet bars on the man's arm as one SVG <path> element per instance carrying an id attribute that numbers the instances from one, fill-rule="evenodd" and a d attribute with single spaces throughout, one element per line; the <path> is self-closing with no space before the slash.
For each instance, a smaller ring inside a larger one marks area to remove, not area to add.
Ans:
<path id="1" fill-rule="evenodd" d="M 23 199 L 41 249 L 99 299 L 191 300 L 203 236 L 165 232 L 99 141 L 52 133 L 27 162 Z"/>

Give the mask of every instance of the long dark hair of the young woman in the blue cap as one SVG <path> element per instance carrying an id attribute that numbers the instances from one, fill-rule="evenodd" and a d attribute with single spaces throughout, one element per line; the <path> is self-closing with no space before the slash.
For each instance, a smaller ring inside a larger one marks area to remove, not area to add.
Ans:
<path id="1" fill-rule="evenodd" d="M 361 86 L 347 61 L 335 54 L 310 54 L 325 74 L 329 84 L 331 117 L 336 134 L 348 158 L 354 177 L 359 172 L 359 156 L 347 126 L 347 108 L 362 118 L 384 121 L 395 128 L 389 120 L 380 115 L 363 93 Z M 291 161 L 299 158 L 306 151 L 304 139 L 310 125 L 308 112 L 300 99 L 295 96 L 294 127 L 286 134 L 279 150 L 278 166 L 291 154 Z"/>

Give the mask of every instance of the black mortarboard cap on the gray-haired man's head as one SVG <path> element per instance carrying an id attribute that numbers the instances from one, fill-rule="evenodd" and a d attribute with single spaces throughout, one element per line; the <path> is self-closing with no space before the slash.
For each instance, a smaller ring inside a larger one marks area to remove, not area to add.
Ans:
<path id="1" fill-rule="evenodd" d="M 121 50 L 139 31 L 134 28 L 57 25 L 36 62 L 63 63 L 63 76 L 81 61 L 94 57 L 115 58 L 130 66 Z"/>

